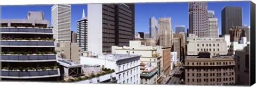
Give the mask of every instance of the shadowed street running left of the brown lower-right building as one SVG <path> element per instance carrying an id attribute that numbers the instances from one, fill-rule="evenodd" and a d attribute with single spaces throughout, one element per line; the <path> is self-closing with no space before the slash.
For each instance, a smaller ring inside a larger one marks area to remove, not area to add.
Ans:
<path id="1" fill-rule="evenodd" d="M 171 80 L 167 82 L 167 84 L 181 84 L 181 79 L 183 79 L 184 67 L 181 63 L 178 67 L 175 67 L 173 71 L 171 71 Z M 183 79 L 184 80 L 184 79 Z"/>

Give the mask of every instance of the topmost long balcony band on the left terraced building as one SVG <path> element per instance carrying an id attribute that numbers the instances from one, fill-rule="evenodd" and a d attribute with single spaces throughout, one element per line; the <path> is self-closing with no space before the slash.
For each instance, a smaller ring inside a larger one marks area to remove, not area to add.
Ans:
<path id="1" fill-rule="evenodd" d="M 47 28 L 1 28 L 1 33 L 42 33 L 42 34 L 53 34 L 52 29 Z"/>

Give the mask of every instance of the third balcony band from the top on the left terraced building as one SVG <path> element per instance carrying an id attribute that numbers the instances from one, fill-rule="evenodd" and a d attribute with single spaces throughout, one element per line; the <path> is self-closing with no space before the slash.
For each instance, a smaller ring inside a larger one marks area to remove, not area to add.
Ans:
<path id="1" fill-rule="evenodd" d="M 49 62 L 56 61 L 55 54 L 46 55 L 2 55 L 1 62 Z"/>

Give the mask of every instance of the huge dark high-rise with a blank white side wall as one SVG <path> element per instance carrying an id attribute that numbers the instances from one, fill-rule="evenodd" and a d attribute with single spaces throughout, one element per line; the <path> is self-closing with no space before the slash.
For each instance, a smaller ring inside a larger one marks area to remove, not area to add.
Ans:
<path id="1" fill-rule="evenodd" d="M 129 41 L 134 37 L 134 7 L 131 5 L 87 5 L 89 51 L 95 54 L 110 53 L 111 46 L 129 46 Z"/>

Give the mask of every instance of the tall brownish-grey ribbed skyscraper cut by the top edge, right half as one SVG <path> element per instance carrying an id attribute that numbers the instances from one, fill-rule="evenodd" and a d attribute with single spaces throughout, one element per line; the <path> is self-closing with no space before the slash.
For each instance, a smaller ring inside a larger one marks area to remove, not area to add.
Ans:
<path id="1" fill-rule="evenodd" d="M 208 37 L 207 2 L 189 2 L 189 33 Z"/>

